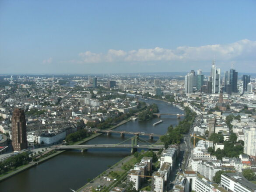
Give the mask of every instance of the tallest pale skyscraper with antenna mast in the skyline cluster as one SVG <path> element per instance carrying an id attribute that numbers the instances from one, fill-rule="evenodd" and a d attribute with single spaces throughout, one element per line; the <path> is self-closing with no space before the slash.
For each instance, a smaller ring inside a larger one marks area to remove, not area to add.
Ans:
<path id="1" fill-rule="evenodd" d="M 220 93 L 221 69 L 216 69 L 215 61 L 212 62 L 210 78 L 212 80 L 212 93 Z"/>

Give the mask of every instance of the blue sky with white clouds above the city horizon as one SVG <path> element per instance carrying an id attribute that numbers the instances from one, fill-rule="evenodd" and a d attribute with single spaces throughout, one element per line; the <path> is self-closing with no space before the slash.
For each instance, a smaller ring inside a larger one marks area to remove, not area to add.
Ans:
<path id="1" fill-rule="evenodd" d="M 256 73 L 256 0 L 0 0 L 0 74 Z"/>

